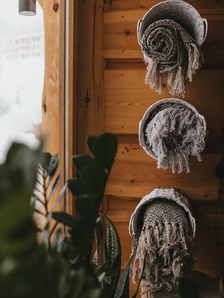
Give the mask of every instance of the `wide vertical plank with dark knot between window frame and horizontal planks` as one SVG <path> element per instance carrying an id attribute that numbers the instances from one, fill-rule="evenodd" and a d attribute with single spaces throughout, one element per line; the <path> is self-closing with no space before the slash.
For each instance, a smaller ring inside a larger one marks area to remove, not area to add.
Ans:
<path id="1" fill-rule="evenodd" d="M 88 135 L 104 131 L 102 26 L 107 7 L 100 0 L 79 1 L 77 153 L 88 153 Z"/>

